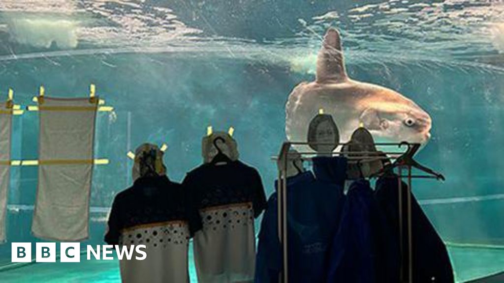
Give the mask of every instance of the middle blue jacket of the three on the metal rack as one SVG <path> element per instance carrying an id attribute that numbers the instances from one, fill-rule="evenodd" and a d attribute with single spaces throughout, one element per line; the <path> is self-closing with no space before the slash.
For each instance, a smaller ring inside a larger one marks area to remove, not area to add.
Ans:
<path id="1" fill-rule="evenodd" d="M 354 181 L 348 190 L 338 232 L 330 250 L 327 282 L 394 283 L 398 252 L 369 181 Z"/>

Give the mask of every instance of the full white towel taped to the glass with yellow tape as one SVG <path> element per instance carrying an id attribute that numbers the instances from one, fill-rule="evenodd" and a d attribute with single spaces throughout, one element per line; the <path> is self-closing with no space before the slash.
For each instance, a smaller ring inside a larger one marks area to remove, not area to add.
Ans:
<path id="1" fill-rule="evenodd" d="M 38 238 L 81 241 L 89 236 L 98 99 L 39 99 L 38 187 L 32 233 Z"/>

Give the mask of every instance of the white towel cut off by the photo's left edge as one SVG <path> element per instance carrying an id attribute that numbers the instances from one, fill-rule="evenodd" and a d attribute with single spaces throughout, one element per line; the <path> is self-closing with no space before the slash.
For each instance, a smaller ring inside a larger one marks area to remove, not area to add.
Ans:
<path id="1" fill-rule="evenodd" d="M 6 240 L 7 192 L 11 160 L 12 111 L 0 106 L 0 242 Z"/>

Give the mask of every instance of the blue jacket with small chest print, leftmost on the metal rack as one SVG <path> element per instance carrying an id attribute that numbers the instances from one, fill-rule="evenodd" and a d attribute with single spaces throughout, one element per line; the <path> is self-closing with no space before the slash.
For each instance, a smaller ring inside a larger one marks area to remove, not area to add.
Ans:
<path id="1" fill-rule="evenodd" d="M 289 283 L 324 281 L 328 247 L 343 206 L 346 159 L 316 158 L 313 171 L 317 178 L 304 172 L 287 179 Z M 282 260 L 277 222 L 275 191 L 261 223 L 256 283 L 278 282 Z"/>

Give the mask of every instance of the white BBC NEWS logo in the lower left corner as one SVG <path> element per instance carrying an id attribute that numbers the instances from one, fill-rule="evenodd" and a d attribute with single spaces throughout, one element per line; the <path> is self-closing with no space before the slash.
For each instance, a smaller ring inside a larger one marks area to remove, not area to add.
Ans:
<path id="1" fill-rule="evenodd" d="M 113 260 L 115 251 L 119 260 L 144 260 L 147 258 L 145 245 L 87 245 L 87 260 L 92 258 L 98 260 Z M 11 261 L 12 262 L 31 262 L 32 261 L 32 243 L 12 243 Z M 35 243 L 35 261 L 36 262 L 56 262 L 56 243 Z M 134 254 L 135 257 L 133 256 Z M 59 244 L 60 262 L 81 262 L 81 243 L 60 243 Z"/>

